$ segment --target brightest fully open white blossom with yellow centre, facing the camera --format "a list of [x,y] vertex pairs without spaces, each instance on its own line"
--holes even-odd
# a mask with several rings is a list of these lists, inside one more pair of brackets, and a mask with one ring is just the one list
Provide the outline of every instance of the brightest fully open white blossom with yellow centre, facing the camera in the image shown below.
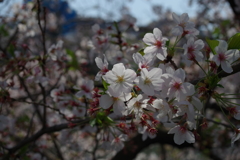
[[120,96],[122,93],[130,93],[133,87],[133,81],[136,79],[136,73],[131,69],[125,69],[123,63],[113,66],[103,79],[110,84],[108,91],[114,97]]

